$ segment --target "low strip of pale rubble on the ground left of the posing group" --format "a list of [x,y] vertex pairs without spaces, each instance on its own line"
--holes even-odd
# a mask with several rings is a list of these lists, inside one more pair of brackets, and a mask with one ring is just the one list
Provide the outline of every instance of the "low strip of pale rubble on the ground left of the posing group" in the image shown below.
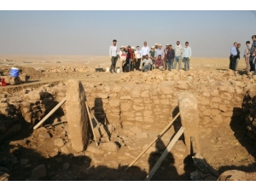
[[91,67],[46,67],[42,72],[48,72],[48,73],[68,73],[68,72],[93,72],[95,69]]

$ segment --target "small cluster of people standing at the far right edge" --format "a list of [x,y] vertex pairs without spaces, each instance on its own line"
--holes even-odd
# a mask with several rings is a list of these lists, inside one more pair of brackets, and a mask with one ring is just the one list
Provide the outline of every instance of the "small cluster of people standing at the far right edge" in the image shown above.
[[[246,42],[247,48],[244,51],[244,58],[247,65],[247,72],[255,72],[255,64],[256,64],[256,35],[252,36],[253,44],[250,44],[250,41]],[[237,44],[236,42],[230,49],[230,69],[236,71],[238,61],[240,60],[240,50],[241,44]]]

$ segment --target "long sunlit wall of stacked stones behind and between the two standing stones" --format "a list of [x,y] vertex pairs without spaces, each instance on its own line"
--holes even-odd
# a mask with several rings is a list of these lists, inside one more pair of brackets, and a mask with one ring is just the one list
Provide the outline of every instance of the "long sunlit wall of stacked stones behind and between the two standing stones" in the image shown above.
[[[177,96],[194,94],[200,127],[230,125],[234,108],[241,108],[255,76],[233,71],[129,73],[117,83],[84,83],[88,103],[102,122],[117,127],[164,128],[175,116]],[[173,114],[172,114],[173,113]],[[106,116],[107,119],[104,119]]]

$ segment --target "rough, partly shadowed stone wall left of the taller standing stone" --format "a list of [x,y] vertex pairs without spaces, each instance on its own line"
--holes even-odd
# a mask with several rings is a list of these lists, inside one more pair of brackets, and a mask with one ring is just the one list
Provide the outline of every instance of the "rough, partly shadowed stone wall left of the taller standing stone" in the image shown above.
[[[62,83],[57,86],[44,84],[38,89],[27,88],[15,94],[0,94],[0,141],[22,129],[32,129],[65,96],[66,85]],[[63,106],[56,113],[64,115]],[[49,121],[53,118],[54,115]]]

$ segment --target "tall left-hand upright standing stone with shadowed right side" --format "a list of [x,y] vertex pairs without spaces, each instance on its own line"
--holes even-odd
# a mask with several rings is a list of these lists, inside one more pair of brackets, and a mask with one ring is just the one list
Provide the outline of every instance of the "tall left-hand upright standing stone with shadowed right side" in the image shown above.
[[88,114],[84,87],[79,80],[67,81],[67,124],[73,150],[84,151],[89,142]]

